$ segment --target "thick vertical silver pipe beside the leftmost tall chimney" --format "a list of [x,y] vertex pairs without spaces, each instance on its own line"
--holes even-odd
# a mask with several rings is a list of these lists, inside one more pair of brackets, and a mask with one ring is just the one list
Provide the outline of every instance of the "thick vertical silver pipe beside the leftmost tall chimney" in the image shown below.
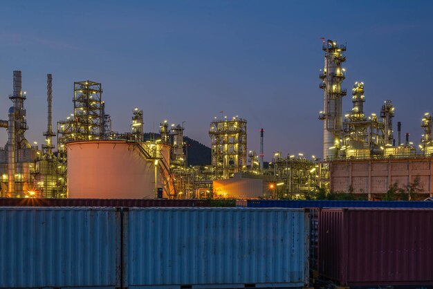
[[8,193],[15,194],[15,107],[9,109],[8,126]]

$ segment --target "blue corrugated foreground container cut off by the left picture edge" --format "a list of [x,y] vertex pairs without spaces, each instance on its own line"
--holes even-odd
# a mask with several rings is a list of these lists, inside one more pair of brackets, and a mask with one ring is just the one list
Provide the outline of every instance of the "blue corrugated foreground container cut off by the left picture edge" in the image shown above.
[[0,224],[0,288],[120,287],[116,209],[0,207]]

